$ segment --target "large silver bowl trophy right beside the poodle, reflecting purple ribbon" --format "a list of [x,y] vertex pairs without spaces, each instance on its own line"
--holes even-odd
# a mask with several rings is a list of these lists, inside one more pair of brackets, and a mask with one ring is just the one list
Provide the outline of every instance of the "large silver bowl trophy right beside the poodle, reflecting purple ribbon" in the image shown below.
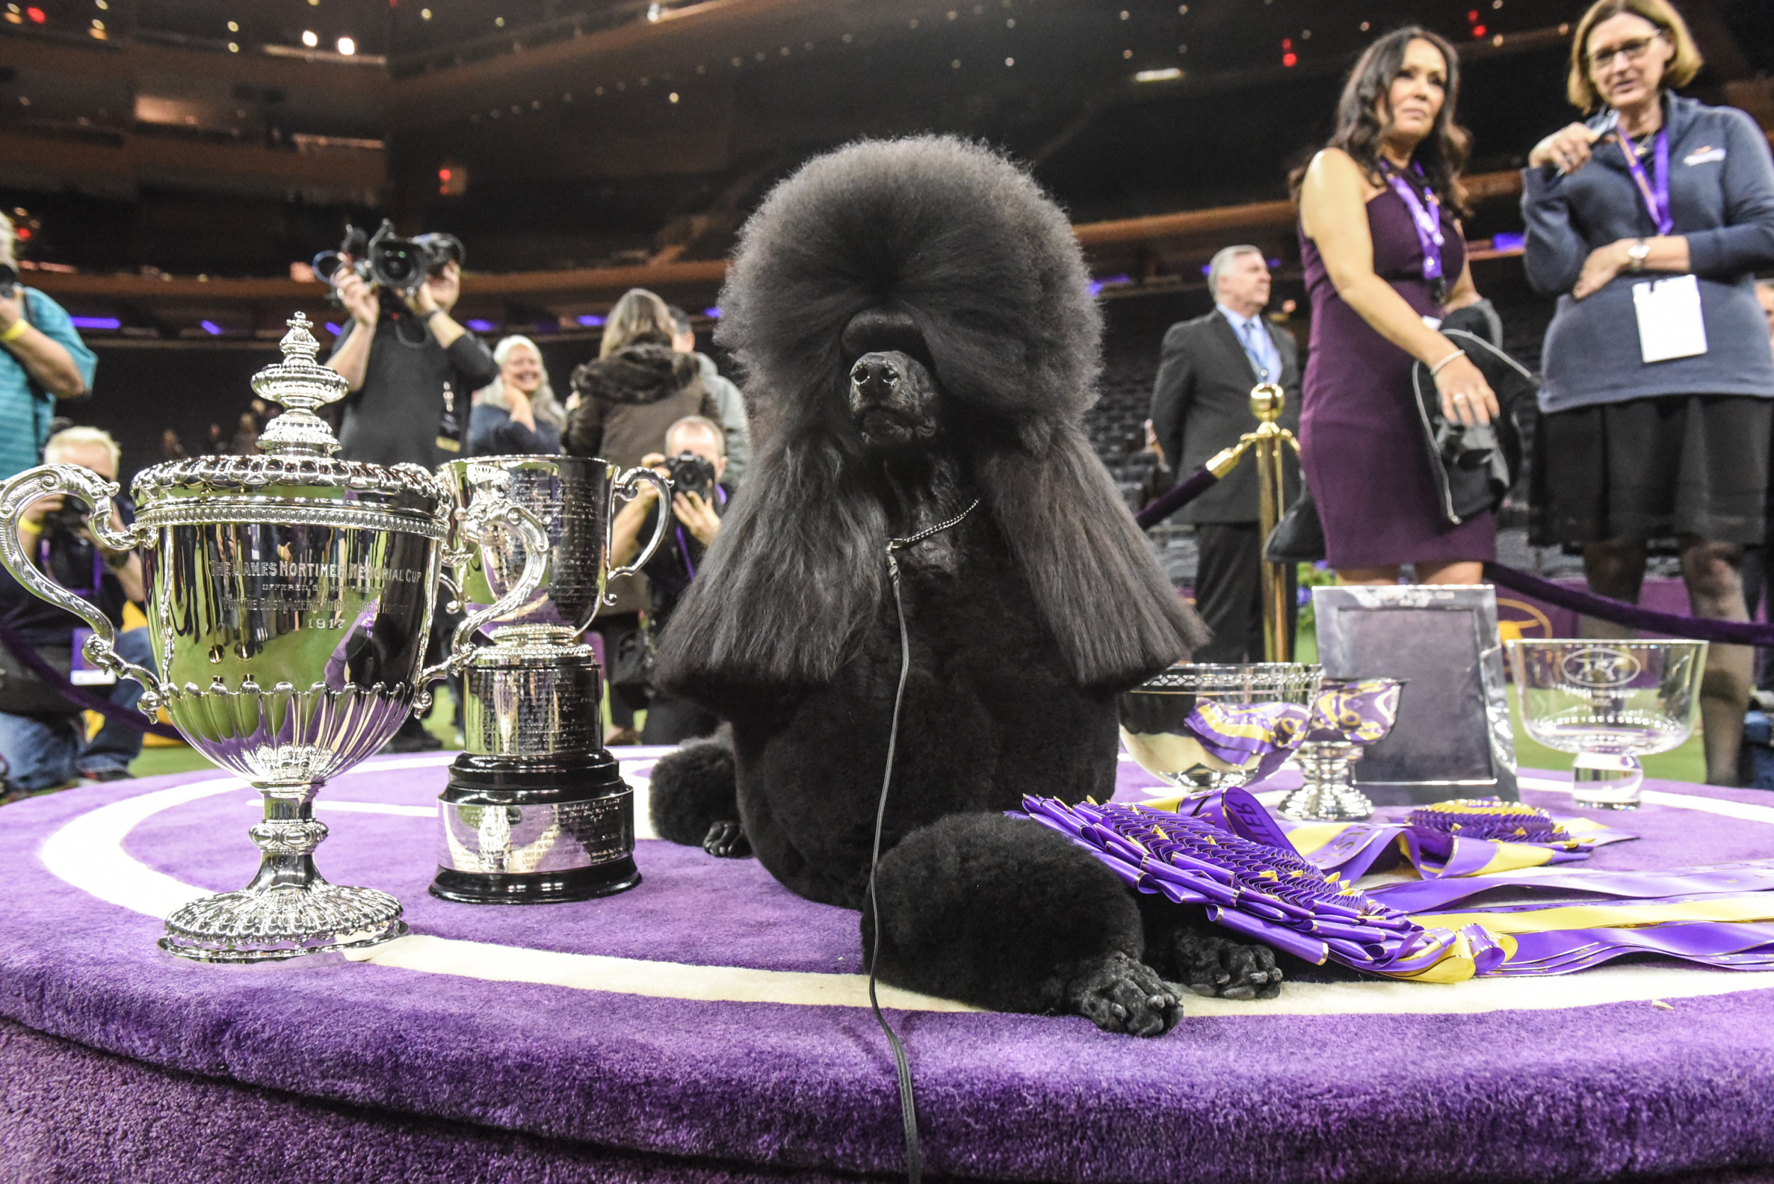
[[1318,666],[1176,663],[1119,698],[1121,743],[1185,794],[1267,776],[1300,743]]

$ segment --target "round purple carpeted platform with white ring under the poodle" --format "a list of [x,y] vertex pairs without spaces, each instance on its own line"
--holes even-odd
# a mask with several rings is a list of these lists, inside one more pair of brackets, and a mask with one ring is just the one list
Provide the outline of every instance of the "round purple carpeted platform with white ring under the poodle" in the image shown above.
[[[658,750],[621,750],[644,789]],[[259,798],[177,775],[0,808],[0,1180],[855,1180],[901,1159],[857,915],[642,840],[644,883],[445,904],[449,753],[328,785],[323,874],[413,936],[266,966],[154,948],[252,876]],[[1150,780],[1123,764],[1118,796]],[[1272,785],[1279,785],[1279,780]],[[1774,796],[1646,783],[1588,867],[1774,856]],[[1549,776],[1527,801],[1570,812]],[[1267,801],[1274,801],[1265,794]],[[1330,978],[1330,977],[1325,977]],[[1455,985],[1187,998],[1155,1040],[885,991],[931,1175],[981,1180],[1762,1180],[1774,973],[1639,961]]]

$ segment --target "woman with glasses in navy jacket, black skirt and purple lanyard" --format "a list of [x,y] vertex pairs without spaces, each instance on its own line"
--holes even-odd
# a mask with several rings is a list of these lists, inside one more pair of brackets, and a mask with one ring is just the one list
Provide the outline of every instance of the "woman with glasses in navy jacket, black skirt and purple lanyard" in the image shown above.
[[[1699,66],[1666,0],[1595,4],[1572,39],[1568,92],[1600,113],[1527,158],[1527,278],[1559,294],[1533,541],[1582,544],[1590,588],[1636,603],[1646,542],[1675,537],[1694,613],[1746,620],[1740,565],[1765,534],[1774,429],[1774,356],[1754,296],[1754,271],[1774,266],[1774,160],[1744,112],[1669,92]],[[1648,323],[1637,312],[1650,284],[1671,278],[1692,284],[1703,328],[1673,351],[1655,340],[1682,310]],[[1696,298],[1684,300],[1692,310]],[[1644,360],[1669,353],[1685,356]],[[1714,645],[1707,661],[1715,785],[1737,782],[1751,666],[1739,645]]]

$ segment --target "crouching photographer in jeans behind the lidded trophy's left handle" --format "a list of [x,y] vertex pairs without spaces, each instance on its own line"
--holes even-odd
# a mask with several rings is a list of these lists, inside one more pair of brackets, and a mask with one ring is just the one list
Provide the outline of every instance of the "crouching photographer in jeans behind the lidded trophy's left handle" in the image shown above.
[[[106,480],[117,479],[121,454],[117,441],[96,427],[69,427],[50,436],[44,463],[78,464]],[[112,526],[122,530],[133,509],[128,498],[112,500]],[[147,620],[131,613],[135,627],[124,627],[130,601],[142,601],[142,560],[135,551],[112,551],[87,530],[87,507],[60,496],[39,498],[20,514],[18,537],[39,571],[64,588],[90,599],[117,633],[117,652],[154,668],[154,647],[147,640]],[[0,615],[20,642],[64,677],[85,686],[108,686],[110,702],[135,707],[142,686],[110,672],[92,670],[80,654],[90,633],[78,617],[27,592],[0,571]],[[142,732],[106,720],[87,739],[80,707],[43,682],[9,649],[0,649],[0,755],[5,757],[12,792],[55,789],[76,776],[112,782],[130,776],[130,762],[142,752]],[[99,691],[106,693],[106,691]]]

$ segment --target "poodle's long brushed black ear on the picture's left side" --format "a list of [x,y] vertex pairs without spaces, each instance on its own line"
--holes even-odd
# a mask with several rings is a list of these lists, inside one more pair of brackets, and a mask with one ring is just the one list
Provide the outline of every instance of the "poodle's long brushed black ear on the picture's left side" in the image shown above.
[[766,447],[660,638],[655,679],[703,702],[830,682],[882,597],[887,519],[830,434]]

